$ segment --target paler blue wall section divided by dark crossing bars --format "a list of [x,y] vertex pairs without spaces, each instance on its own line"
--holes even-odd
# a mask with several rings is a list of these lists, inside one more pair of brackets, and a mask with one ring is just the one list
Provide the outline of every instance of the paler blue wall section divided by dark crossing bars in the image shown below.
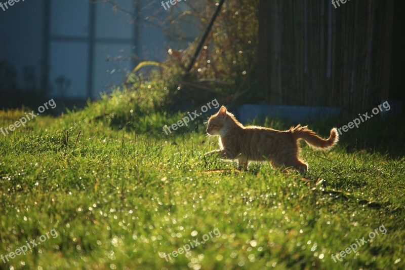
[[[121,1],[121,5],[133,10],[132,0]],[[119,17],[109,4],[76,1],[72,5],[67,0],[51,1],[50,14],[48,81],[52,96],[94,98],[124,80],[134,65],[131,56],[139,42],[133,16]]]

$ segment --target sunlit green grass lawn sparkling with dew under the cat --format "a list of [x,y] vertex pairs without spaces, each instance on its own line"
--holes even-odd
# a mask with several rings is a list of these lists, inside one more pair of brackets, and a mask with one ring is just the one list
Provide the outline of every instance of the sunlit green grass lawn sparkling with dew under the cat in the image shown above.
[[[403,131],[394,128],[403,120],[369,120],[328,152],[303,144],[313,179],[306,182],[267,164],[250,172],[207,173],[235,164],[204,159],[218,147],[204,135],[205,119],[166,136],[162,127],[176,123],[180,113],[154,112],[152,105],[131,112],[127,101],[115,95],[0,134],[0,254],[53,228],[58,232],[26,255],[0,260],[0,268],[405,266]],[[0,127],[21,116],[21,110],[1,112]],[[310,127],[326,136],[344,123],[330,119]],[[278,129],[291,124],[264,123]],[[386,234],[333,261],[332,254],[369,239],[382,224]],[[221,236],[190,254],[169,262],[161,257],[201,242],[215,228]]]

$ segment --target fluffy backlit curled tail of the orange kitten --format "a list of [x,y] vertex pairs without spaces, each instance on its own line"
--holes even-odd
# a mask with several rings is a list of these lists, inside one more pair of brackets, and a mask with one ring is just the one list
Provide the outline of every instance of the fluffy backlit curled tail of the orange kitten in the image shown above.
[[327,140],[322,139],[315,132],[308,129],[307,126],[301,127],[301,125],[290,128],[290,132],[296,140],[303,139],[313,148],[326,150],[334,147],[339,141],[339,134],[336,128],[331,130],[331,135]]

